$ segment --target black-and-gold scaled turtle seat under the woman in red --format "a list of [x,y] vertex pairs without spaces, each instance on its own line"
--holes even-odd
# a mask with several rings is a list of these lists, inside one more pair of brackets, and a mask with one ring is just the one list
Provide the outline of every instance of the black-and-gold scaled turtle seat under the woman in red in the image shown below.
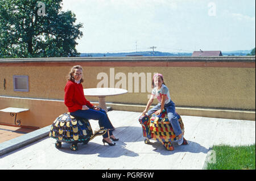
[[108,129],[100,129],[93,134],[88,119],[73,117],[68,112],[53,121],[49,137],[57,140],[56,148],[61,148],[61,142],[67,142],[71,143],[71,150],[76,151],[77,143],[87,144],[94,137],[105,134],[107,131]]

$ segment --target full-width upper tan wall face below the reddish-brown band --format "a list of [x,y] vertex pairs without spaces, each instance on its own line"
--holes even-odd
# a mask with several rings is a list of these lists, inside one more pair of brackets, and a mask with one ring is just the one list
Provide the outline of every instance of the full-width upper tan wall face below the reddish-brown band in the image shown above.
[[[5,66],[1,67],[0,95],[40,99],[64,99],[66,75],[71,66]],[[199,68],[199,67],[99,67],[84,66],[84,88],[96,87],[101,80],[99,73],[109,77],[110,68],[115,74],[128,73],[162,73],[164,82],[170,89],[176,106],[235,108],[242,110],[255,109],[255,68]],[[113,69],[112,69],[113,70]],[[15,92],[13,75],[28,75],[29,91]],[[6,90],[3,88],[6,79]],[[150,78],[151,79],[151,78]],[[114,85],[119,80],[114,80]],[[141,81],[139,81],[141,84]],[[134,87],[134,86],[133,86]],[[129,92],[124,95],[108,96],[106,102],[147,103],[149,92]],[[96,100],[96,97],[86,97]]]

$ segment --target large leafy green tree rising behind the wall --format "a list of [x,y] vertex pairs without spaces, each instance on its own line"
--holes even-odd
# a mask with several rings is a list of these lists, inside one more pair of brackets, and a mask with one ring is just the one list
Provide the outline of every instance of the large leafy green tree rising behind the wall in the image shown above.
[[0,57],[76,57],[82,24],[62,0],[1,0]]

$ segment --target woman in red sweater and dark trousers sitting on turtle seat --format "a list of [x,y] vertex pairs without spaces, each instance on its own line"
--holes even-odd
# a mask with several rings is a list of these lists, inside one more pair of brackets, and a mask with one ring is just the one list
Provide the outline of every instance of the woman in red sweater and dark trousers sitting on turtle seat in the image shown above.
[[68,74],[68,82],[64,89],[64,103],[68,107],[68,111],[72,116],[98,120],[100,128],[105,128],[109,131],[109,135],[108,132],[102,135],[104,145],[105,142],[110,146],[115,145],[111,140],[118,141],[118,139],[112,133],[114,127],[110,123],[108,115],[104,110],[85,99],[82,82],[84,82],[82,79],[82,67],[80,65],[73,66]]

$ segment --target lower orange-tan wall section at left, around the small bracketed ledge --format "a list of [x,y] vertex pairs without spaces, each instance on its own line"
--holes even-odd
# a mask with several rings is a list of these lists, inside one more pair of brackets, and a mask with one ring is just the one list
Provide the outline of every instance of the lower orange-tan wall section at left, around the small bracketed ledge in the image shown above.
[[[53,123],[57,116],[67,112],[63,101],[35,100],[0,97],[0,110],[6,107],[27,108],[29,111],[17,113],[16,120],[20,125],[29,127],[46,127]],[[0,111],[0,124],[14,124],[15,116]]]

